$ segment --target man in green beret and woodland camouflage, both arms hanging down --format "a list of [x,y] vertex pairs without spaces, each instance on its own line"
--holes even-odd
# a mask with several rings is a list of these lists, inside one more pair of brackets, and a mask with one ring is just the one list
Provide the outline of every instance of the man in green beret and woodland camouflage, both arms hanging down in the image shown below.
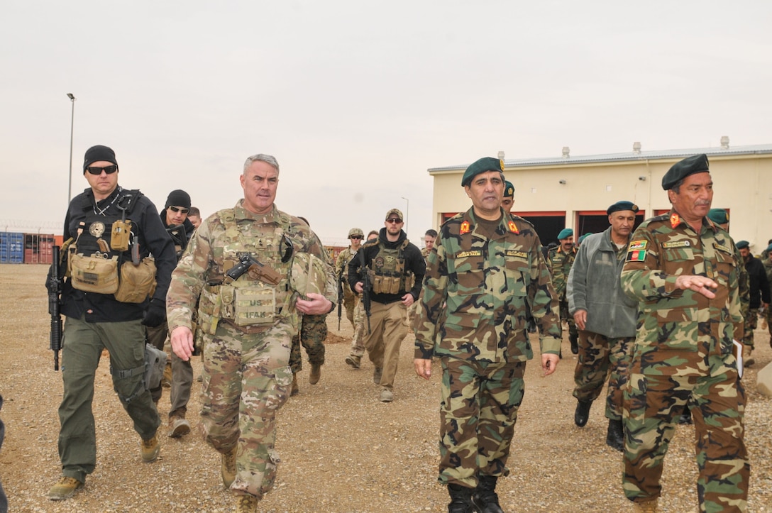
[[[415,372],[442,365],[438,481],[449,511],[502,511],[496,495],[523,400],[533,351],[526,309],[541,326],[541,366],[554,372],[560,350],[557,296],[528,221],[500,208],[503,161],[470,165],[462,186],[472,208],[442,224],[428,255],[424,298],[415,319]],[[436,345],[435,345],[436,341]]]

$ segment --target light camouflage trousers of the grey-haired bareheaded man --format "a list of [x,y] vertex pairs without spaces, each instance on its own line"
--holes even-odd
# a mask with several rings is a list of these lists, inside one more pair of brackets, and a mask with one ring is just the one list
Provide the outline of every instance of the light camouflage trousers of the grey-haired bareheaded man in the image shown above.
[[236,447],[231,490],[262,498],[276,479],[276,412],[289,397],[289,346],[295,328],[280,322],[245,334],[219,322],[204,336],[201,429],[219,453]]

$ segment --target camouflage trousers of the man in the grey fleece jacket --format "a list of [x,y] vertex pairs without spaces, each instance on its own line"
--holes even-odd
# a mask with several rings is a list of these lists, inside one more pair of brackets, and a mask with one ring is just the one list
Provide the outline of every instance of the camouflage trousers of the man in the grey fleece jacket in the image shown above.
[[606,417],[621,420],[622,395],[634,343],[633,336],[609,339],[598,333],[580,330],[579,358],[574,369],[574,397],[581,401],[598,399],[608,377]]

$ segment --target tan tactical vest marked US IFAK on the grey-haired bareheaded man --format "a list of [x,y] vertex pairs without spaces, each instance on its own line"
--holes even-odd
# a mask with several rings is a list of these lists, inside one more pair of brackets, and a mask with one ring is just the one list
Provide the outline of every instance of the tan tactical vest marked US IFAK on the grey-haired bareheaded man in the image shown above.
[[[279,226],[268,224],[239,223],[233,209],[219,211],[217,217],[225,228],[222,238],[212,241],[215,255],[222,243],[222,268],[210,270],[215,275],[207,276],[198,305],[198,319],[201,330],[214,335],[219,319],[227,319],[244,332],[255,332],[273,326],[279,320],[298,325],[295,309],[290,309],[292,292],[289,290],[289,269],[293,245],[286,236],[284,227],[289,227],[289,218],[280,218]],[[256,228],[265,231],[256,231]],[[235,281],[225,284],[222,276],[239,264],[240,255],[249,253],[262,265],[273,268],[282,275],[278,285],[270,285],[245,272]]]

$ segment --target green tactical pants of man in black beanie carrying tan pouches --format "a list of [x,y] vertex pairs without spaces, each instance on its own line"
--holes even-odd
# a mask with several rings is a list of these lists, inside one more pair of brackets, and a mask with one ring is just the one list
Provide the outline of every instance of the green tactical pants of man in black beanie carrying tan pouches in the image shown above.
[[59,406],[59,459],[64,476],[84,482],[97,466],[97,434],[91,403],[102,349],[107,348],[110,353],[113,390],[134,420],[134,430],[143,440],[149,440],[161,424],[151,393],[144,389],[143,372],[127,377],[116,375],[122,370],[144,370],[144,337],[144,326],[139,320],[66,319],[62,348],[64,396]]

